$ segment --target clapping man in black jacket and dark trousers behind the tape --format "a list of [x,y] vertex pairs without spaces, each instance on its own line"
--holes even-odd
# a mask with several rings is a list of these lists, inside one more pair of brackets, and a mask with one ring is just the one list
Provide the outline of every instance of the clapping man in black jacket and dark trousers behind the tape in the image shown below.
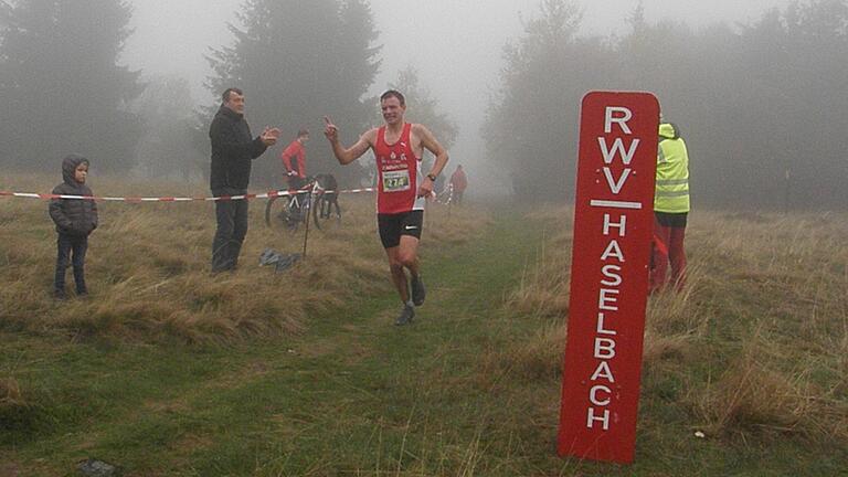
[[[265,152],[279,137],[279,129],[268,128],[259,136],[251,136],[251,127],[244,120],[244,93],[227,88],[222,95],[209,138],[212,141],[212,195],[242,195],[247,193],[251,181],[251,161]],[[235,269],[239,253],[247,234],[247,201],[224,200],[215,202],[218,230],[212,243],[212,272]]]

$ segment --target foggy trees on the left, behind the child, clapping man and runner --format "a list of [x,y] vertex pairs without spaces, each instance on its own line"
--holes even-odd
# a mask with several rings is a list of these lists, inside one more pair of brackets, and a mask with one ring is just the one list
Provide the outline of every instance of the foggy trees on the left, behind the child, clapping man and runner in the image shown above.
[[[51,170],[74,151],[112,173],[208,173],[218,104],[198,109],[186,80],[120,65],[131,15],[125,0],[0,0],[4,170]],[[216,96],[243,88],[254,128],[279,127],[290,136],[285,142],[300,128],[320,136],[321,117],[331,114],[352,141],[379,121],[378,100],[367,95],[381,64],[379,32],[365,0],[245,0],[227,26],[235,40],[206,52],[206,87]],[[415,71],[399,73],[399,83],[415,88],[416,118],[443,125],[449,146],[455,127]],[[257,184],[282,182],[278,161],[257,161],[254,171]],[[329,148],[310,149],[309,171],[333,172],[342,183],[368,177],[362,165],[339,168]]]

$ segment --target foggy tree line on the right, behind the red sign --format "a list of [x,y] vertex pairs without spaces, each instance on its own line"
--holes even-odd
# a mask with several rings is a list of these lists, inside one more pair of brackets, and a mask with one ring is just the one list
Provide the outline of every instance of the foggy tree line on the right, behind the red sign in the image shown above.
[[579,110],[592,89],[648,91],[682,131],[696,206],[848,205],[848,2],[772,9],[750,24],[648,22],[581,36],[568,0],[543,0],[504,50],[483,134],[516,192],[574,194]]

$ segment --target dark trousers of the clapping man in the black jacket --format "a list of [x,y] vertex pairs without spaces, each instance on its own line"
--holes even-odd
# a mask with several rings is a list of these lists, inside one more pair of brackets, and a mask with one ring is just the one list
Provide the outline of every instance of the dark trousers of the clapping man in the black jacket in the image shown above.
[[[215,197],[242,195],[246,190],[219,189],[212,191]],[[212,272],[235,269],[242,242],[247,235],[247,201],[223,200],[215,202],[218,231],[212,242]]]

